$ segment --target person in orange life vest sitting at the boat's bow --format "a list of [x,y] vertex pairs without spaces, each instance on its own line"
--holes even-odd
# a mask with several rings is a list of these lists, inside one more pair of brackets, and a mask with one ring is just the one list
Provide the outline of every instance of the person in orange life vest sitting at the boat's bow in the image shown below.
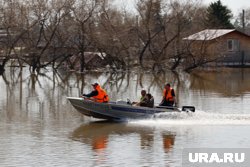
[[98,83],[92,84],[93,91],[89,94],[83,94],[84,97],[92,98],[94,101],[99,103],[107,103],[109,101],[108,94],[101,88]]

